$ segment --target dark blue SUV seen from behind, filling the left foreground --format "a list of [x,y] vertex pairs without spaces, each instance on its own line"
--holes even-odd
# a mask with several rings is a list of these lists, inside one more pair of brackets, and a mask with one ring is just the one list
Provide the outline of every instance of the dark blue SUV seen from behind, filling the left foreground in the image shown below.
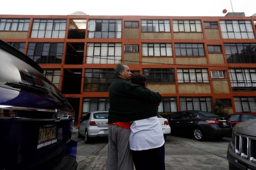
[[24,53],[0,40],[0,169],[77,168],[74,109]]

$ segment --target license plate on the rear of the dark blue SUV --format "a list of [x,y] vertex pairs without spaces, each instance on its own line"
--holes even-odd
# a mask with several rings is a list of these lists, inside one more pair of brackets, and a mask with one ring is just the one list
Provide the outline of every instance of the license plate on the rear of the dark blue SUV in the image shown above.
[[56,134],[56,125],[52,127],[40,127],[38,135],[38,145],[56,139]]

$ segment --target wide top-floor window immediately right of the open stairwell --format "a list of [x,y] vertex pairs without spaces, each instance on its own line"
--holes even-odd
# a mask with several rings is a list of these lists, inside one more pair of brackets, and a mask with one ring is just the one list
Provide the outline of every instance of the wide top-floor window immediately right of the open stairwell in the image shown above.
[[88,38],[122,38],[122,20],[90,20]]

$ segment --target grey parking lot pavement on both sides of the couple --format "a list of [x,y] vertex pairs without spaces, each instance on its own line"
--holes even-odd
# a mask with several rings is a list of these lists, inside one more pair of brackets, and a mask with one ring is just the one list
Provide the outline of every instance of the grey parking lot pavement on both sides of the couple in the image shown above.
[[[78,170],[105,170],[108,139],[93,139],[85,144],[74,129],[72,139],[78,142]],[[228,170],[227,149],[230,137],[203,142],[182,136],[168,135],[165,141],[166,170]]]

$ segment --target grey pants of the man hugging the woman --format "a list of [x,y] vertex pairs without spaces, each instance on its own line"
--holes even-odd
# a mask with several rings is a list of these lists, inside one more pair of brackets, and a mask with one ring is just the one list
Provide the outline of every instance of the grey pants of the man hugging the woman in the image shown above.
[[130,129],[108,126],[108,158],[106,170],[133,170],[129,146]]

